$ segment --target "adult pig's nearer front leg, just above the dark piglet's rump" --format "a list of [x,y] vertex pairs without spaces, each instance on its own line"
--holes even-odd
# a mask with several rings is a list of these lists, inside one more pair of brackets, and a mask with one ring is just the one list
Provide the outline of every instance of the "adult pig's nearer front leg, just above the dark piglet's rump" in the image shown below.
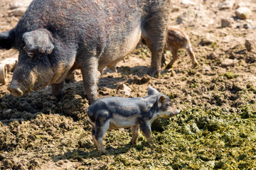
[[89,104],[97,100],[97,67],[97,57],[90,57],[90,59],[86,60],[85,64],[81,68],[82,81],[85,85],[85,92],[89,100]]

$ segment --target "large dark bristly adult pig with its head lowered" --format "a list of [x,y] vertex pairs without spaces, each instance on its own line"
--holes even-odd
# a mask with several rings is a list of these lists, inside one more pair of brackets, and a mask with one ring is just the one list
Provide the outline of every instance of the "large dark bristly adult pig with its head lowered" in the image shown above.
[[0,49],[16,48],[9,86],[23,96],[51,84],[60,94],[65,77],[81,69],[90,103],[97,99],[97,69],[116,63],[143,38],[158,76],[171,0],[34,0],[17,26],[0,34]]

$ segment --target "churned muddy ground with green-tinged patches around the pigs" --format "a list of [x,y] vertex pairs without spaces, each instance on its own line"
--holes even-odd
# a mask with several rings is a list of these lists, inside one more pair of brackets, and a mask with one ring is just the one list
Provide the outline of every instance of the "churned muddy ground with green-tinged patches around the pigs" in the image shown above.
[[[0,84],[0,168],[255,169],[256,50],[248,51],[245,40],[256,44],[256,18],[236,18],[238,0],[223,10],[220,0],[193,2],[173,1],[170,20],[190,36],[199,67],[192,68],[186,51],[179,50],[172,69],[163,67],[161,77],[149,77],[150,52],[143,46],[119,62],[117,73],[106,69],[98,83],[100,97],[122,96],[119,84],[132,89],[131,97],[146,96],[150,84],[173,98],[181,113],[152,125],[154,145],[141,134],[138,144],[130,145],[129,129],[109,130],[104,139],[109,154],[101,156],[90,136],[79,70],[61,98],[51,95],[50,87],[11,96],[9,72],[9,83]],[[1,0],[0,31],[18,21],[11,3]],[[255,1],[244,5],[256,16]],[[221,28],[221,18],[232,28]],[[15,50],[0,51],[0,61],[17,56]]]

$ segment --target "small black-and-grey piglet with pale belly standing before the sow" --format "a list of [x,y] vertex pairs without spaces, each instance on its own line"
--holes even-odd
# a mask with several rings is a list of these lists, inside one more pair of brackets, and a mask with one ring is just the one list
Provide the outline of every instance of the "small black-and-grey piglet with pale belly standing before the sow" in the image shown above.
[[102,137],[108,129],[129,128],[132,144],[137,143],[139,130],[149,143],[153,142],[151,123],[156,118],[170,118],[180,111],[170,98],[149,86],[148,96],[143,98],[105,97],[99,98],[87,108],[92,123],[92,138],[97,149],[106,154]]

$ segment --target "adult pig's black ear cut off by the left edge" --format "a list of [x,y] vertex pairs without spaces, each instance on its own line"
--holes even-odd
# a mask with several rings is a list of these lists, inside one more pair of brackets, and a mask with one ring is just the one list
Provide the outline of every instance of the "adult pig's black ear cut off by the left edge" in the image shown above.
[[14,42],[14,31],[0,33],[0,49],[10,50]]

